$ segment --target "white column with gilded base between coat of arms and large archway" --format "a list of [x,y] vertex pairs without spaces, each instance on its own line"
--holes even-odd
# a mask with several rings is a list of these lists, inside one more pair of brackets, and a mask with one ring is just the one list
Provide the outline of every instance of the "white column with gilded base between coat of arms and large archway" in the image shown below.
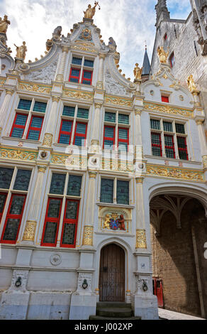
[[135,178],[136,181],[136,248],[147,248],[145,233],[145,211],[143,199],[143,180]]

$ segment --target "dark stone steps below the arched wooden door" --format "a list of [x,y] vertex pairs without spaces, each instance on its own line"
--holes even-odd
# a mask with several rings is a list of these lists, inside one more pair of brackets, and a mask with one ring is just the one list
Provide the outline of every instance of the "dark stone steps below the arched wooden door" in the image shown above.
[[99,307],[96,308],[96,316],[109,317],[109,318],[130,318],[133,316],[133,311],[131,308],[124,307]]

